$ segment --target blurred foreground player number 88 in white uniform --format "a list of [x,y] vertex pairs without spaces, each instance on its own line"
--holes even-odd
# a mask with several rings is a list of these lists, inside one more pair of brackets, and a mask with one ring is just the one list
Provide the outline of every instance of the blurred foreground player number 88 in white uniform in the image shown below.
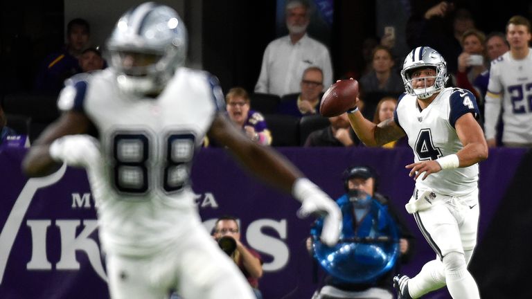
[[[247,281],[202,226],[190,188],[195,149],[206,134],[240,162],[323,212],[323,242],[335,244],[342,214],[327,194],[270,147],[256,145],[224,116],[209,73],[184,68],[186,28],[175,10],[143,3],[107,42],[109,69],[68,82],[64,114],[23,161],[42,176],[62,161],[87,169],[98,201],[100,239],[114,299],[254,298]],[[99,141],[85,135],[96,127]]]

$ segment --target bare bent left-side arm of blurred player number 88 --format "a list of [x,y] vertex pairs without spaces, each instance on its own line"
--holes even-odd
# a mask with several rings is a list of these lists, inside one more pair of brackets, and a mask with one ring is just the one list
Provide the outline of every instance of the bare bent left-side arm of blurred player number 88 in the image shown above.
[[65,135],[82,134],[88,131],[90,120],[80,112],[68,111],[49,125],[37,138],[22,161],[22,170],[27,176],[45,176],[60,167],[50,156],[50,145]]

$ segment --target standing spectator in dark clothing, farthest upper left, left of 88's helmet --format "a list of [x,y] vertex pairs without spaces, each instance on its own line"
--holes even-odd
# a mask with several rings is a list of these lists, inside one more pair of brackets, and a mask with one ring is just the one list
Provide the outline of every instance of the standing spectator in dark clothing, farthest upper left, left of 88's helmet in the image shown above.
[[35,91],[57,95],[64,86],[64,80],[81,73],[79,57],[89,44],[91,30],[85,19],[72,19],[67,25],[67,44],[48,55],[37,73]]

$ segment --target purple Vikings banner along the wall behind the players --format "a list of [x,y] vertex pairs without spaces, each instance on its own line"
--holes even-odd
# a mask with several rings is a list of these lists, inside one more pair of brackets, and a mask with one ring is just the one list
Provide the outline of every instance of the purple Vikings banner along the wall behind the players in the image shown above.
[[[416,234],[408,275],[434,258],[412,217],[403,208],[414,188],[405,165],[409,149],[280,148],[333,198],[342,195],[342,172],[349,165],[378,171],[380,192],[403,212]],[[524,150],[495,149],[481,163],[482,237],[504,197]],[[20,172],[24,149],[0,151],[0,298],[108,298],[94,201],[83,170],[66,168],[41,179]],[[299,219],[299,202],[269,188],[242,170],[223,149],[203,149],[195,158],[193,189],[206,229],[220,215],[240,219],[242,239],[265,260],[260,289],[265,299],[310,298],[312,259],[305,251],[313,219]],[[481,250],[481,242],[479,242]],[[449,298],[445,294],[428,298]]]

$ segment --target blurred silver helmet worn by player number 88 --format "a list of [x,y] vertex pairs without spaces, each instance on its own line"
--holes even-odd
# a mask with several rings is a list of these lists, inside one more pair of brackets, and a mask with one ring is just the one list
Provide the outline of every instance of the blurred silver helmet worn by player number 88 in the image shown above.
[[153,2],[125,12],[107,40],[109,66],[128,93],[157,93],[186,59],[186,28],[175,10]]

